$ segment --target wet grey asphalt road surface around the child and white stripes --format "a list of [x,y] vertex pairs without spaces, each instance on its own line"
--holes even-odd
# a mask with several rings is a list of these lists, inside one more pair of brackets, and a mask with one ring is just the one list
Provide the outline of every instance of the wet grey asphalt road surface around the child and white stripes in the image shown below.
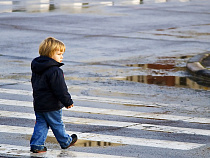
[[[6,1],[5,1],[6,2]],[[11,2],[11,1],[7,1]],[[31,2],[31,3],[29,3]],[[179,1],[17,1],[0,3],[0,88],[29,90],[30,62],[38,46],[53,36],[66,45],[64,70],[72,95],[138,100],[167,106],[121,105],[75,101],[76,106],[130,110],[157,114],[209,118],[210,93],[205,80],[199,84],[187,71],[187,61],[210,50],[210,3]],[[155,3],[156,2],[156,3]],[[208,65],[208,63],[205,63]],[[3,80],[15,81],[4,83]],[[27,84],[21,84],[24,82]],[[0,99],[32,101],[32,97],[0,93]],[[15,106],[0,106],[13,111]],[[33,113],[32,108],[15,111]],[[109,121],[209,130],[209,124],[64,112],[65,116]],[[0,117],[1,125],[33,128],[34,121]],[[137,145],[108,147],[75,146],[73,151],[142,158],[207,158],[209,136],[137,131],[117,127],[66,124],[67,130],[134,138],[176,140],[206,145],[192,150],[173,150]],[[28,146],[21,134],[0,134],[1,144]],[[49,140],[47,146],[59,149]]]

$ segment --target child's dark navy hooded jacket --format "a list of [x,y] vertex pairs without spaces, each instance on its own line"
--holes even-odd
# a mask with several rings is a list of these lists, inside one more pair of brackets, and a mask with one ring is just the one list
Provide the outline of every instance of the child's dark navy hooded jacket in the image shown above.
[[46,56],[39,56],[32,61],[34,111],[55,111],[73,104],[60,69],[62,65]]

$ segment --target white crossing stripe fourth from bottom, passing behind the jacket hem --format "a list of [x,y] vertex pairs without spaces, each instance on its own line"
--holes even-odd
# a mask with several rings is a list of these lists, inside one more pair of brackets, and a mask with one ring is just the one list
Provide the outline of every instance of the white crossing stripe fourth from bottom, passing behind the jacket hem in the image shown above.
[[[32,102],[8,100],[8,99],[0,99],[0,104],[33,107]],[[67,110],[67,109],[64,108],[64,110]],[[184,121],[184,122],[190,122],[190,123],[210,124],[209,118],[200,118],[200,117],[154,114],[154,113],[102,109],[102,108],[92,108],[92,107],[82,107],[82,106],[76,106],[69,110],[73,112],[92,113],[92,114],[117,115],[117,116],[125,116],[125,117],[144,118],[144,119],[171,120],[171,121]]]

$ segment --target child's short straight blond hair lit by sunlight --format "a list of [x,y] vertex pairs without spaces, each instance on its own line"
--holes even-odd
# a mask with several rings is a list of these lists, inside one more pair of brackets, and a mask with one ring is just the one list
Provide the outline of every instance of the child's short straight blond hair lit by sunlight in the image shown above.
[[65,49],[63,42],[54,37],[48,37],[39,45],[39,55],[52,57],[56,51],[65,52]]

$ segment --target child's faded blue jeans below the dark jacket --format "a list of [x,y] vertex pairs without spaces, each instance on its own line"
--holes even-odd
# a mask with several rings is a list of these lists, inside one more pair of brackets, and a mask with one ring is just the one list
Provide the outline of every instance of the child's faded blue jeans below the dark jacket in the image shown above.
[[72,141],[65,131],[62,121],[62,110],[50,112],[35,112],[36,124],[31,137],[30,146],[32,150],[41,150],[47,138],[49,127],[52,129],[58,143],[61,147],[68,147]]

